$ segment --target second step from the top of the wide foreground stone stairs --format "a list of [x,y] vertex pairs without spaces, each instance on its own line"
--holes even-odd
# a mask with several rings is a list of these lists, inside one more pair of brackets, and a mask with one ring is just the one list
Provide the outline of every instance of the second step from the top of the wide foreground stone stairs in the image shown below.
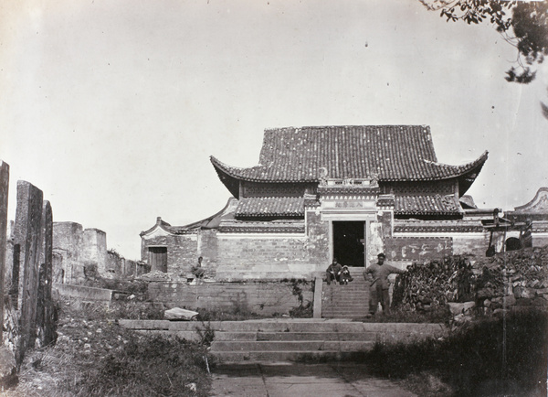
[[217,332],[216,341],[375,340],[376,332]]

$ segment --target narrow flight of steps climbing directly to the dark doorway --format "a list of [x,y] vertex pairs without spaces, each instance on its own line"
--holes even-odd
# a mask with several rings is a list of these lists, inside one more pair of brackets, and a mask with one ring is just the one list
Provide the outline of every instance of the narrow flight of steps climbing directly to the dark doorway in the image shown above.
[[364,280],[363,267],[350,267],[353,281],[328,285],[321,290],[321,317],[363,319],[369,313],[369,282]]

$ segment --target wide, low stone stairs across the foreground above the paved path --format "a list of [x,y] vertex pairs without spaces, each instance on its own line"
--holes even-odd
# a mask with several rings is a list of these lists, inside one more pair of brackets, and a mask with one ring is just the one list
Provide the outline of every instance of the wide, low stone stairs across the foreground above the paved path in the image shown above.
[[268,318],[200,322],[120,320],[122,327],[141,332],[199,339],[196,328],[215,331],[211,353],[219,362],[344,359],[366,351],[375,341],[443,336],[439,324],[362,323],[350,319]]

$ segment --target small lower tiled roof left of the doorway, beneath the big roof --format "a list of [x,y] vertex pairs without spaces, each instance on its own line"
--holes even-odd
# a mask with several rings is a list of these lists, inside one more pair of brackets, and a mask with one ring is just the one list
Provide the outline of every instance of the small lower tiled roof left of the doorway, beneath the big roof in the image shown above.
[[239,200],[237,218],[246,217],[304,217],[302,197],[254,197]]

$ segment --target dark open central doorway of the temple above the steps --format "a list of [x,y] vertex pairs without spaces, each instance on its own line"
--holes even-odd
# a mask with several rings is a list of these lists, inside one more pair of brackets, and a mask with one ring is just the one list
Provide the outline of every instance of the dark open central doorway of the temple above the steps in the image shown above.
[[363,221],[333,221],[333,257],[343,266],[364,267],[363,241]]

